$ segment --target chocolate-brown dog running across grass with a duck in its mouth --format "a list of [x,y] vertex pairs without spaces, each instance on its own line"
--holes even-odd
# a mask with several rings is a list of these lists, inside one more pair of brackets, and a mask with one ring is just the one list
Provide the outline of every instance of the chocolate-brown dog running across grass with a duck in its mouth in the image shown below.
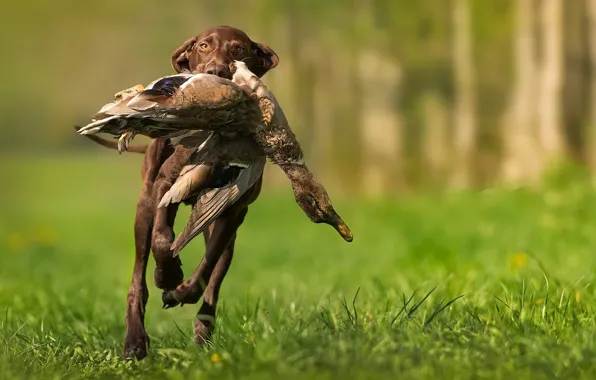
[[[249,70],[263,76],[279,62],[277,54],[268,46],[252,41],[244,32],[229,26],[207,29],[185,41],[172,54],[172,66],[178,73],[209,73],[231,79],[233,62],[243,61]],[[90,136],[91,137],[91,136]],[[92,139],[110,148],[115,142],[98,137]],[[134,152],[145,152],[141,173],[143,188],[135,217],[135,263],[132,284],[128,292],[126,311],[126,339],[124,355],[142,359],[147,356],[149,337],[145,331],[145,305],[149,297],[146,269],[149,250],[156,261],[155,285],[163,290],[188,288],[185,303],[197,303],[203,295],[203,304],[195,320],[195,342],[206,342],[215,327],[215,309],[223,279],[234,254],[236,231],[244,221],[248,205],[258,197],[262,178],[240,199],[236,205],[218,217],[204,233],[206,252],[201,264],[192,276],[192,286],[182,283],[183,272],[178,257],[173,258],[170,246],[174,240],[174,219],[177,204],[157,208],[163,195],[173,185],[190,155],[181,146],[175,149],[167,140],[155,139],[148,147],[132,146]],[[188,199],[185,203],[194,203]],[[196,281],[205,286],[197,289]]]

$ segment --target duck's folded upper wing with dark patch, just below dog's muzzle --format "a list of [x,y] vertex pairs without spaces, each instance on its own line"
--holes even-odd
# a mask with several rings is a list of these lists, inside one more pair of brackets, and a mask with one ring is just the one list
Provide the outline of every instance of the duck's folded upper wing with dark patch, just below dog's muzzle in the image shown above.
[[135,132],[155,138],[178,137],[189,130],[227,131],[240,125],[248,130],[256,113],[247,99],[240,86],[216,75],[171,75],[132,98],[104,106],[104,112],[79,133]]

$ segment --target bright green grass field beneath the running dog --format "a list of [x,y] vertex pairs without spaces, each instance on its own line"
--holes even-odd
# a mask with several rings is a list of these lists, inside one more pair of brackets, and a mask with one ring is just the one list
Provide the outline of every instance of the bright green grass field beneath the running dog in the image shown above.
[[[596,376],[596,195],[581,181],[337,200],[352,244],[289,193],[265,194],[213,345],[194,346],[196,308],[162,310],[150,281],[151,353],[132,362],[121,351],[140,157],[0,160],[1,379]],[[200,255],[197,239],[187,274]]]

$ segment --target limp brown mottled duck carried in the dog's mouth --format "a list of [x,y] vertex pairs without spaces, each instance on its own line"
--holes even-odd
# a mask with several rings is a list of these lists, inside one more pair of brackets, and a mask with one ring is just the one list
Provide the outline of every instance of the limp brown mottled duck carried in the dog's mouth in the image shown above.
[[351,230],[305,164],[275,95],[244,62],[234,65],[232,80],[185,73],[121,91],[78,133],[120,136],[123,150],[137,134],[196,149],[159,203],[167,207],[197,196],[172,244],[174,256],[255,184],[266,158],[284,171],[296,203],[313,223],[328,224],[351,242]]

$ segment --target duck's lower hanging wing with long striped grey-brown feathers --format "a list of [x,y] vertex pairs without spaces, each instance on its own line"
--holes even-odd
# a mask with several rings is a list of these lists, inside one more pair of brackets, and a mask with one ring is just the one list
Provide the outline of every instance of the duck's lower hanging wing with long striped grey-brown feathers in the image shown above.
[[265,157],[260,157],[243,168],[228,185],[205,190],[195,205],[188,223],[171,246],[174,257],[192,240],[205,230],[226,208],[244,195],[263,174]]

